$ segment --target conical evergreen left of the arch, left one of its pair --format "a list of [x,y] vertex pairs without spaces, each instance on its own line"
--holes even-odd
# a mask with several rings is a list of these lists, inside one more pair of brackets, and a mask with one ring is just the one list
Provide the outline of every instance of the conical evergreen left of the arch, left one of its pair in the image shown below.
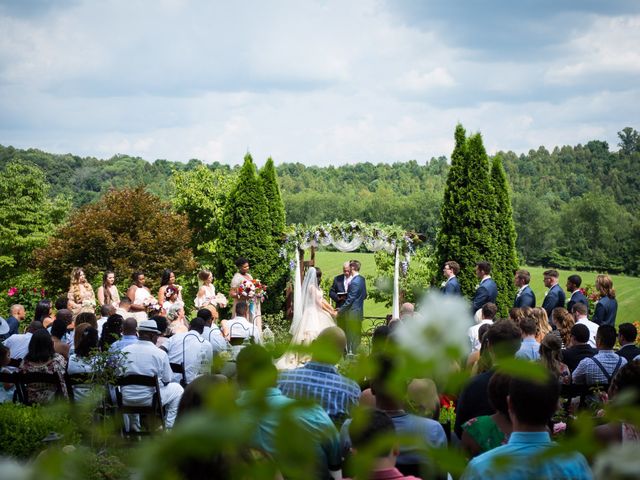
[[262,182],[251,155],[247,154],[224,209],[216,283],[219,291],[228,291],[236,271],[236,259],[247,258],[253,278],[259,278],[269,287],[262,313],[273,311],[281,296],[281,292],[274,289],[273,282],[277,284],[277,274],[281,270],[279,264],[283,259],[278,255],[272,226]]

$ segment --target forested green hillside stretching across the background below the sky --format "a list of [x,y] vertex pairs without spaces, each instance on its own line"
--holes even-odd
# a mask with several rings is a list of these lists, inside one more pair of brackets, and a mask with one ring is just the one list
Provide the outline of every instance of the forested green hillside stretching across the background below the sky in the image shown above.
[[[544,147],[527,154],[500,152],[511,188],[518,252],[530,264],[637,273],[640,263],[640,135],[619,132],[619,150],[593,140]],[[45,172],[51,194],[74,206],[96,201],[111,187],[144,184],[161,198],[173,194],[171,175],[201,163],[118,155],[108,160],[53,155],[0,146],[0,169],[13,159]],[[278,159],[275,159],[276,161]],[[212,170],[231,173],[219,163]],[[435,239],[445,157],[426,164],[359,163],[340,167],[277,166],[287,222],[359,219],[398,224]]]

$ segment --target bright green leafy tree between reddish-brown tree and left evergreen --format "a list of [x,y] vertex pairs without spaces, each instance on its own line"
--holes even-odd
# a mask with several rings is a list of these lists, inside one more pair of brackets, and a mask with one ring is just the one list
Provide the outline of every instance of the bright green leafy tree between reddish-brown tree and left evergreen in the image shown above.
[[213,265],[224,205],[233,185],[233,176],[222,169],[197,165],[188,171],[174,171],[173,206],[189,219],[193,232],[191,248],[203,265]]

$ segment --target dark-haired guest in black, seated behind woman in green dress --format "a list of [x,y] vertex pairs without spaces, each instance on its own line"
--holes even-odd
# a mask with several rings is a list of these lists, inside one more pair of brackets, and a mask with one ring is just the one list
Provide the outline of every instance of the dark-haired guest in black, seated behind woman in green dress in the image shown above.
[[[502,358],[513,358],[520,347],[520,329],[510,320],[501,320],[489,327],[486,333],[487,349],[493,365]],[[458,398],[455,432],[462,437],[462,425],[480,415],[493,415],[494,408],[489,403],[489,380],[494,369],[472,377]]]

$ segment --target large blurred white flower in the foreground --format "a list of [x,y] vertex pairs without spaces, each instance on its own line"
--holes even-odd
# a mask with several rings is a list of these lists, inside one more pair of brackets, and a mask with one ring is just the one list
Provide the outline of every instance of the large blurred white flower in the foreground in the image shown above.
[[404,350],[423,360],[457,359],[469,350],[467,331],[473,325],[464,299],[428,293],[416,313],[398,326],[395,337]]

